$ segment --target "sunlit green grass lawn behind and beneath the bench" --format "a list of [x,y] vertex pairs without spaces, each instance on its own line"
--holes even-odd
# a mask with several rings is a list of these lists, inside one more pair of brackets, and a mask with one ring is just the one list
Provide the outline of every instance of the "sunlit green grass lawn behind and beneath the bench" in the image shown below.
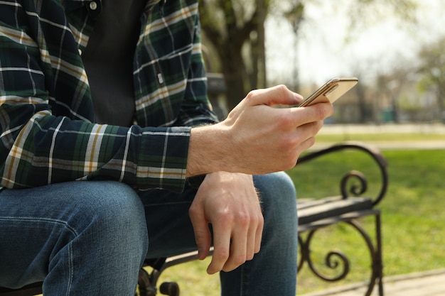
[[[392,137],[393,140],[396,138],[399,137]],[[344,139],[338,139],[341,140]],[[390,187],[379,205],[382,209],[385,275],[444,268],[445,150],[385,150],[383,154],[390,163]],[[289,175],[296,184],[299,197],[323,197],[333,192],[337,194],[343,172],[350,168],[368,168],[369,163],[370,158],[360,153],[337,153],[297,166],[289,170]],[[379,181],[377,170],[368,168],[364,172],[369,176],[370,184]],[[371,188],[369,194],[375,194]],[[372,233],[372,220],[366,218],[360,223]],[[328,251],[340,249],[350,259],[351,270],[345,280],[333,284],[317,280],[307,272],[306,266],[298,275],[299,294],[370,277],[367,248],[350,226],[342,224],[319,231],[313,240],[313,248],[320,265]],[[218,276],[205,274],[207,264],[208,260],[175,266],[165,271],[161,281],[178,280],[184,295],[219,295]]]

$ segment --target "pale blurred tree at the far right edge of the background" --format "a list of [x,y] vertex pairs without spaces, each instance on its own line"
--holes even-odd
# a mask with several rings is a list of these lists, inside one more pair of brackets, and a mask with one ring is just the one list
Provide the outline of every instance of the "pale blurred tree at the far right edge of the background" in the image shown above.
[[419,52],[419,89],[436,93],[437,114],[445,122],[445,36],[425,45]]

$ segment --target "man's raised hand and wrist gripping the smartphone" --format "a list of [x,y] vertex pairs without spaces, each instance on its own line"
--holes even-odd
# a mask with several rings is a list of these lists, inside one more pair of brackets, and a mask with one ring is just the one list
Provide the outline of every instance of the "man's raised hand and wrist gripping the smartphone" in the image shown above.
[[192,128],[187,175],[218,171],[259,175],[292,168],[315,142],[323,119],[333,113],[330,103],[273,108],[302,99],[284,86],[257,89],[224,121]]

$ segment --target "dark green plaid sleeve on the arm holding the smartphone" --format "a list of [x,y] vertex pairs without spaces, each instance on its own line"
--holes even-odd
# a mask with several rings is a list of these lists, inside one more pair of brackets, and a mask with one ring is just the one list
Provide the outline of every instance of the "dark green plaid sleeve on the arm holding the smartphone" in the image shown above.
[[191,128],[93,124],[63,8],[48,0],[39,11],[36,2],[0,3],[1,187],[117,180],[183,190]]

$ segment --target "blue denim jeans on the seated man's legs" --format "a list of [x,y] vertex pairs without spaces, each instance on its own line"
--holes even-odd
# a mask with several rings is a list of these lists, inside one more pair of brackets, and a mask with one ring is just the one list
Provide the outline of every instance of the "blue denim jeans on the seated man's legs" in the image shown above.
[[[262,249],[221,273],[222,295],[295,295],[296,206],[283,172],[254,177]],[[188,218],[195,190],[136,192],[112,181],[0,192],[0,286],[43,282],[45,296],[134,295],[144,258],[196,249]],[[147,252],[148,250],[148,252]]]

